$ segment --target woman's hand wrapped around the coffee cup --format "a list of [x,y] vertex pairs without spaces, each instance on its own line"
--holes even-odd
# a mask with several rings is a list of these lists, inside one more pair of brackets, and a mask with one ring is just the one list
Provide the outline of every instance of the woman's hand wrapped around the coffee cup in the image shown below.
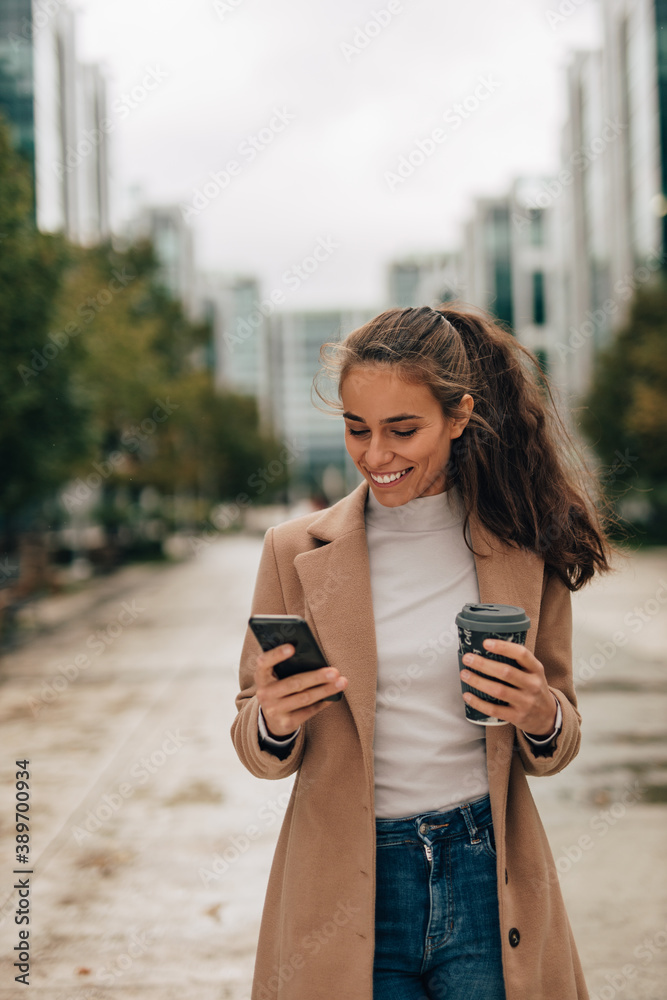
[[[492,679],[462,670],[461,680],[478,691],[483,691],[493,698],[500,698],[508,704],[494,705],[468,692],[463,695],[464,701],[486,715],[494,715],[498,719],[514,723],[518,729],[538,739],[540,736],[549,736],[556,724],[558,706],[549,690],[544,667],[540,661],[525,646],[520,646],[516,642],[485,639],[483,645],[491,653],[516,660],[523,670],[510,663],[500,663],[497,660],[489,660],[486,656],[466,653],[463,657],[464,664],[482,671]],[[508,684],[512,686],[507,687]]]

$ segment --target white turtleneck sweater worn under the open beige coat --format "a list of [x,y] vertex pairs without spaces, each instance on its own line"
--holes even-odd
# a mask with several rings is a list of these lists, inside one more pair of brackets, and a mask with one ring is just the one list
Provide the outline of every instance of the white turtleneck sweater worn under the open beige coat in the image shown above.
[[[377,644],[375,815],[452,809],[488,792],[486,731],[465,717],[455,617],[479,601],[455,489],[386,507],[368,492]],[[299,727],[300,729],[301,727]],[[267,747],[288,747],[266,731]],[[535,743],[546,743],[534,740]]]

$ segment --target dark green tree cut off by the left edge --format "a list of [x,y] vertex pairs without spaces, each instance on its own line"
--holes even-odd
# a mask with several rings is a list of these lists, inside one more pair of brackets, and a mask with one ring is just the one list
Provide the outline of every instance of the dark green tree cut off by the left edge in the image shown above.
[[49,336],[67,261],[62,238],[35,229],[30,170],[0,118],[0,515],[10,534],[88,442],[80,352]]

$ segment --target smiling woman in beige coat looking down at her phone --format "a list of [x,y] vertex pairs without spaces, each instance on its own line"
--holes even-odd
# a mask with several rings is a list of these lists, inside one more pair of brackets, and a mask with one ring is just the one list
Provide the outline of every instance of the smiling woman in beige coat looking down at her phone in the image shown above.
[[[278,680],[293,647],[246,635],[236,751],[296,772],[252,1000],[587,998],[526,775],[578,752],[570,591],[611,547],[544,376],[461,304],[390,309],[322,353],[363,482],[264,541],[253,613],[305,617],[330,668]],[[469,664],[507,703],[493,727],[459,681],[454,617],[478,601],[531,620],[493,646],[518,667]]]

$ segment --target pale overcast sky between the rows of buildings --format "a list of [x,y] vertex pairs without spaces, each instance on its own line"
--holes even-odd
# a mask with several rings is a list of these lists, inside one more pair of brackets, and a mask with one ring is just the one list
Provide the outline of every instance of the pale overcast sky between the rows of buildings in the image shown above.
[[[572,13],[550,24],[559,5]],[[75,9],[80,58],[108,77],[116,219],[139,201],[196,205],[197,267],[255,274],[289,309],[383,306],[387,261],[455,249],[476,196],[557,168],[569,53],[600,35],[598,0]],[[318,240],[336,246],[287,287]]]

